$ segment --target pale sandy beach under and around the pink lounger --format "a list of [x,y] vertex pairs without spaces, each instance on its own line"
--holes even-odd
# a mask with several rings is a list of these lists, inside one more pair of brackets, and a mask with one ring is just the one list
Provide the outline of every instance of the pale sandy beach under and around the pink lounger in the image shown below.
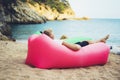
[[27,44],[0,41],[0,80],[120,80],[120,55],[110,53],[104,66],[38,69],[25,63]]

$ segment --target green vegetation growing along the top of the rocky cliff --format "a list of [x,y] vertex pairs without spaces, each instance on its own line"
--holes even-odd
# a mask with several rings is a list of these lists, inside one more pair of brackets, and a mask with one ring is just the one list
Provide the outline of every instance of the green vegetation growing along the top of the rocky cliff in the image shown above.
[[[63,13],[63,11],[70,7],[69,3],[66,0],[20,0],[22,2],[29,2],[31,4],[44,3],[45,5],[50,6],[53,10],[56,9],[59,13]],[[16,0],[4,0],[3,4],[5,6],[9,6],[11,3],[16,3]]]

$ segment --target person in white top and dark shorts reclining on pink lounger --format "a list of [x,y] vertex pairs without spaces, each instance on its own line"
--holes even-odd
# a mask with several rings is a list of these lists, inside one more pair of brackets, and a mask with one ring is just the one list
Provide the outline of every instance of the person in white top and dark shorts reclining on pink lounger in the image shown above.
[[[55,40],[54,39],[54,33],[53,33],[52,29],[46,29],[46,30],[44,30],[41,33],[44,33],[48,37],[50,37],[51,39]],[[67,37],[66,36],[62,36],[61,37],[61,39],[65,39],[65,38],[67,38]],[[88,41],[76,42],[74,44],[65,42],[63,40],[55,40],[55,42],[57,42],[59,44],[62,44],[65,47],[67,47],[67,48],[69,48],[71,50],[78,51],[78,50],[80,50],[81,47],[87,46],[89,44],[94,44],[94,43],[98,43],[98,42],[106,43],[106,41],[107,41],[108,38],[109,38],[109,34],[106,35],[105,37],[99,39],[99,40],[96,40],[96,41],[88,40]]]

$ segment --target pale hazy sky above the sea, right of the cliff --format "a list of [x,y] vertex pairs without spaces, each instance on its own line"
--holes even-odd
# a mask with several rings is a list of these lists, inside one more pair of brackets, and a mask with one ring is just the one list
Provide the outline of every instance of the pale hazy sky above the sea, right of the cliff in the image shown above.
[[120,18],[120,0],[68,0],[76,16]]

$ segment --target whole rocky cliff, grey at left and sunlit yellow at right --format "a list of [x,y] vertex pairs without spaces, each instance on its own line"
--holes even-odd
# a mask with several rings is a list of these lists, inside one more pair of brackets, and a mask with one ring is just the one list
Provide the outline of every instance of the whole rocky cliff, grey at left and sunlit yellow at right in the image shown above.
[[[11,34],[10,27],[6,23],[44,23],[48,20],[64,20],[75,16],[69,5],[60,12],[43,2],[30,3],[29,0],[26,1],[0,0],[0,39]],[[60,1],[66,2],[66,0]],[[1,36],[3,37],[1,38]]]

